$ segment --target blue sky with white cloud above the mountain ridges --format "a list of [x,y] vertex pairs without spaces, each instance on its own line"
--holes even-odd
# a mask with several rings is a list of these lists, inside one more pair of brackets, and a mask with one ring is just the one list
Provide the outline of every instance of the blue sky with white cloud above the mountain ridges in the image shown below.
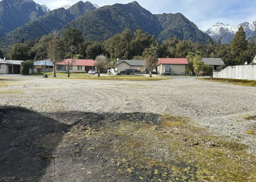
[[[75,4],[79,0],[34,1],[55,9],[62,5]],[[125,4],[131,1],[91,0],[90,2],[104,6],[115,3]],[[255,0],[137,0],[137,2],[153,14],[180,12],[202,30],[207,30],[217,22],[237,25],[245,21],[256,21]]]

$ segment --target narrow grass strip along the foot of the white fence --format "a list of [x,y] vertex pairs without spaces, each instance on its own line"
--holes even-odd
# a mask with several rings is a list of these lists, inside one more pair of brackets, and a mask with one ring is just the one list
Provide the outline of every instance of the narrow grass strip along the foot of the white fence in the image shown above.
[[203,78],[202,80],[256,87],[256,80],[238,80],[238,79],[226,79],[226,78]]

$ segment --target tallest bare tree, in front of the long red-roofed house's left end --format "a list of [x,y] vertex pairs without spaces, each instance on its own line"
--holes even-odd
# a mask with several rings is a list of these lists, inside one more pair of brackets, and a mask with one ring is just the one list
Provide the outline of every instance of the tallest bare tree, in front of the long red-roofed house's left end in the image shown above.
[[51,40],[48,43],[47,54],[50,61],[53,63],[53,77],[56,77],[56,63],[62,61],[63,50],[61,46],[61,39],[58,36],[58,31],[53,30],[50,33]]

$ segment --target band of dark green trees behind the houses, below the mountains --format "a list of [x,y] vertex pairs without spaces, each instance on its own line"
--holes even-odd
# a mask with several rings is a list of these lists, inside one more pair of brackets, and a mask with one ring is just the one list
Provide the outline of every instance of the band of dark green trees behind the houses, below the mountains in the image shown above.
[[[56,31],[55,31],[56,32]],[[49,59],[49,47],[53,41],[52,33],[35,40],[20,39],[8,50],[0,51],[0,56],[12,60],[43,60]],[[98,55],[109,58],[109,66],[114,66],[114,57],[119,59],[144,59],[149,53],[158,58],[222,58],[226,66],[241,65],[251,62],[256,54],[255,37],[246,40],[242,27],[231,41],[231,44],[221,44],[209,39],[207,43],[180,40],[177,36],[159,43],[154,36],[138,29],[134,34],[126,29],[113,37],[101,42],[84,39],[82,32],[76,28],[65,30],[64,34],[56,35],[58,51],[61,59],[95,59]],[[191,55],[193,55],[193,59]],[[196,58],[194,58],[196,57]],[[196,72],[196,69],[193,69]]]

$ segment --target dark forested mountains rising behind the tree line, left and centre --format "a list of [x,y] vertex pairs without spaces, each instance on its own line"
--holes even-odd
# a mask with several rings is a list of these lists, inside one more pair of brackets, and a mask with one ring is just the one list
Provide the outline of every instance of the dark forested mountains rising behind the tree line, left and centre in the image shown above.
[[[132,32],[142,29],[144,32],[154,35],[158,41],[166,40],[174,35],[182,40],[207,42],[208,39],[211,39],[181,13],[153,15],[136,1],[99,8],[89,1],[85,3],[79,1],[71,7],[65,6],[50,11],[49,8],[39,5],[33,0],[2,0],[0,1],[0,13],[8,12],[6,5],[10,8],[14,6],[15,9],[9,20],[0,16],[1,46],[16,43],[22,37],[25,41],[42,37],[53,29],[63,33],[65,29],[71,27],[78,28],[86,40],[93,41],[106,40],[127,28]],[[15,13],[16,9],[20,9],[21,12],[26,10],[26,16],[21,17],[19,13]],[[5,17],[8,17],[7,14]],[[19,19],[22,18],[24,20],[20,21]],[[19,24],[16,23],[8,28],[6,22],[12,20]]]

